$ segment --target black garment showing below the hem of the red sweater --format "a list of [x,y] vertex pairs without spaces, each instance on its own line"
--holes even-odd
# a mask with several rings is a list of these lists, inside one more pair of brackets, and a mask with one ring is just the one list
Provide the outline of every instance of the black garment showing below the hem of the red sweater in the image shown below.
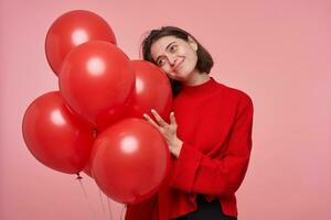
[[177,220],[237,220],[223,213],[218,199],[209,202],[203,195],[196,195],[197,210]]

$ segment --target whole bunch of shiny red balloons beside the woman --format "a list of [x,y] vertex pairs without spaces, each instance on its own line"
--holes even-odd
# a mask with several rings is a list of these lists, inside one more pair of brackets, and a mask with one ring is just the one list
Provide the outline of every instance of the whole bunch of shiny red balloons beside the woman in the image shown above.
[[22,132],[33,156],[58,172],[89,174],[116,201],[152,196],[170,154],[142,114],[156,109],[169,120],[168,77],[151,63],[130,61],[108,23],[84,10],[54,21],[45,54],[60,90],[38,97],[25,111]]

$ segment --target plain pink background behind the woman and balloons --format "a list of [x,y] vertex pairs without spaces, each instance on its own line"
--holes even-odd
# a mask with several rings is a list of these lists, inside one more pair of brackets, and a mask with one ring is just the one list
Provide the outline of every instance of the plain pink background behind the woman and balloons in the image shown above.
[[[110,219],[107,199],[84,175],[40,164],[21,134],[23,113],[57,89],[44,40],[62,13],[90,10],[109,22],[119,46],[139,57],[142,33],[178,25],[215,59],[212,76],[254,100],[254,148],[238,190],[241,220],[331,219],[331,2],[58,1],[0,3],[0,219]],[[122,206],[110,201],[114,219]],[[106,210],[105,210],[106,209]]]

